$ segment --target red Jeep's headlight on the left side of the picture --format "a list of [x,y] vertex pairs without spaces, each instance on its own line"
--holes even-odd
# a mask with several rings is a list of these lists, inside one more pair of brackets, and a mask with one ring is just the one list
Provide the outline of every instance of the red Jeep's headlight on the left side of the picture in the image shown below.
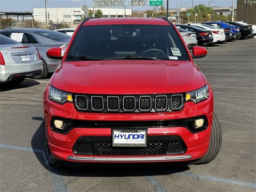
[[56,103],[73,102],[72,94],[49,86],[48,98]]

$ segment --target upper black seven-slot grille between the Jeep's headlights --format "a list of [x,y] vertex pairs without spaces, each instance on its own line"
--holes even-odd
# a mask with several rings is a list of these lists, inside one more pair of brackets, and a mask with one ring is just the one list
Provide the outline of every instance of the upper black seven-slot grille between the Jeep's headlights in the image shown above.
[[76,109],[86,112],[169,112],[180,110],[183,105],[183,94],[75,96]]

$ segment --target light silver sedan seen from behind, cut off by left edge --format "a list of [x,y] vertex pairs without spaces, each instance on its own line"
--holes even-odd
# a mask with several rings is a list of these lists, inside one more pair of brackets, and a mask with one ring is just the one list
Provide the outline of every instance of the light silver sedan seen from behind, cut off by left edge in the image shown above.
[[0,35],[0,82],[21,83],[24,78],[40,76],[43,63],[38,50]]

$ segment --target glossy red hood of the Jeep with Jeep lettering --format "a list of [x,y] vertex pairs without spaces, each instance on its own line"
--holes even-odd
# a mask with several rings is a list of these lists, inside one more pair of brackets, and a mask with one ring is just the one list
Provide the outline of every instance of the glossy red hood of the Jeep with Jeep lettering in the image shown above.
[[82,61],[64,62],[51,85],[84,94],[164,94],[196,90],[204,78],[189,61]]

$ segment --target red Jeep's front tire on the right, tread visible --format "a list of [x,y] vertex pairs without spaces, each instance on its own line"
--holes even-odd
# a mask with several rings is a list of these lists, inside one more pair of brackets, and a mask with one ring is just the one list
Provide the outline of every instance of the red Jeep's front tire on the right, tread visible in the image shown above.
[[220,152],[221,144],[222,128],[220,126],[220,120],[218,119],[217,115],[213,113],[212,132],[209,147],[205,156],[198,160],[196,164],[206,164],[214,160],[218,153]]

